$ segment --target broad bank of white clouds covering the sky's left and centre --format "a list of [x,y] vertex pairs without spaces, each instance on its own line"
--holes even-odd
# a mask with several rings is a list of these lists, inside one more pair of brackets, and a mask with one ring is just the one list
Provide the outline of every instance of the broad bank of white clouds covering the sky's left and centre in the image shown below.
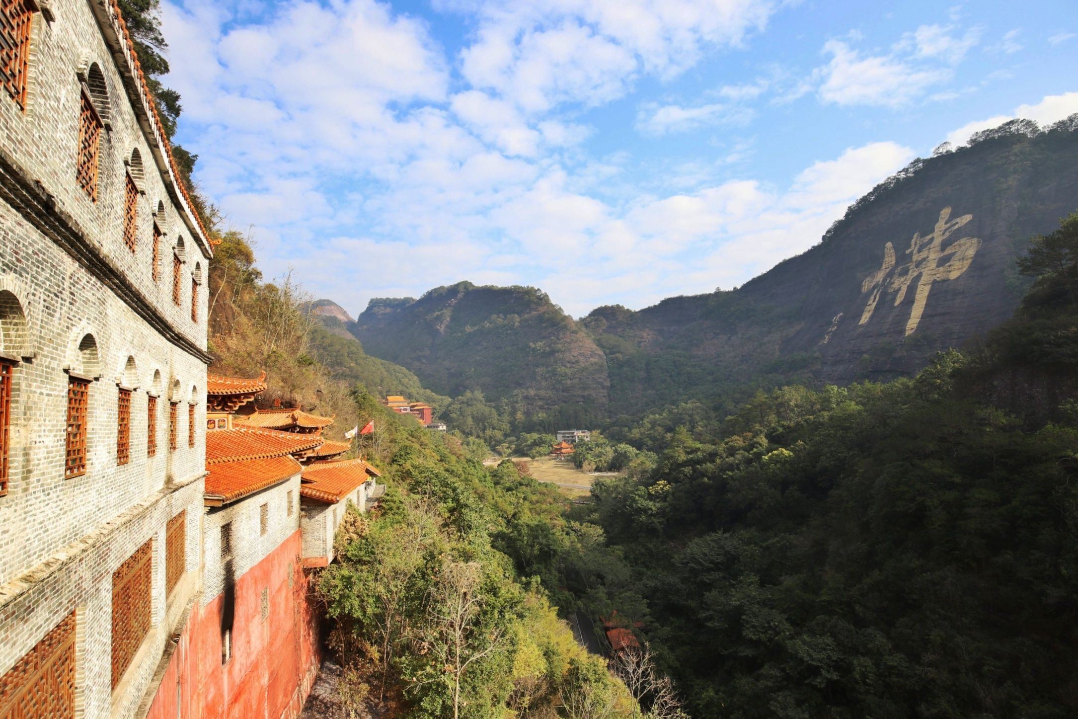
[[[770,2],[484,3],[456,70],[421,22],[373,0],[282,0],[268,17],[229,6],[164,5],[183,52],[166,84],[183,95],[197,179],[235,226],[254,226],[268,276],[292,266],[353,312],[460,279],[527,278],[576,315],[741,284],[818,241],[912,154],[853,148],[775,186],[723,181],[750,140],[644,179],[631,155],[577,147],[595,130],[575,112],[737,46]],[[641,123],[733,122],[765,89],[719,85]]]

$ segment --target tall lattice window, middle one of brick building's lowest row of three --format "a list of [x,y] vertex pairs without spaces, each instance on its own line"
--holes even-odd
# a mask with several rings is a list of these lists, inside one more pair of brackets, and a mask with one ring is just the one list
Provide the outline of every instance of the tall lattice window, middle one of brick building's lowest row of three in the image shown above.
[[153,540],[112,572],[112,688],[130,666],[150,631],[150,589],[153,581]]

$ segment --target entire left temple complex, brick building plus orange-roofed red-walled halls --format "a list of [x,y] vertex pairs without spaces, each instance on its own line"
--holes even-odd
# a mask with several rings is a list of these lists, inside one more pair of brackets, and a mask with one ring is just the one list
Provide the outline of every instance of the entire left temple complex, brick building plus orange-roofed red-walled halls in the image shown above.
[[294,717],[376,472],[207,375],[212,246],[115,0],[0,0],[0,718]]

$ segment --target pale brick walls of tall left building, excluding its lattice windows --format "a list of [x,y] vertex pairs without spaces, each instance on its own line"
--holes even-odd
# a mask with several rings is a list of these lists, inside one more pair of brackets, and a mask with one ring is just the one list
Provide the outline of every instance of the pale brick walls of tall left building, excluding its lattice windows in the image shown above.
[[[52,0],[49,8],[52,22],[42,13],[32,20],[26,110],[0,93],[0,354],[20,360],[12,373],[9,490],[0,496],[0,675],[75,611],[77,716],[129,717],[153,691],[162,653],[201,585],[205,284],[197,322],[191,292],[193,278],[208,275],[209,250],[137,93],[132,101],[130,67],[113,60],[123,61],[124,46],[110,4]],[[82,81],[95,65],[108,96],[99,108],[106,129],[96,202],[75,180]],[[135,156],[142,168],[133,172],[140,190],[133,252],[123,218]],[[164,233],[157,281],[155,219]],[[176,304],[172,252],[180,247]],[[96,381],[87,469],[65,479],[69,372]],[[120,385],[134,389],[125,465],[116,457]],[[150,393],[158,397],[154,457]],[[175,451],[169,401],[179,402]],[[165,526],[181,511],[186,571],[166,597]],[[151,538],[151,627],[113,691],[112,572]]]

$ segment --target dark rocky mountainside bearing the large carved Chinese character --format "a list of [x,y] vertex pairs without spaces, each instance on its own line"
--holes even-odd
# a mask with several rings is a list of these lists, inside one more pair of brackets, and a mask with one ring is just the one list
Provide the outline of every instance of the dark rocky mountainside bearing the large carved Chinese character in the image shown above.
[[[908,375],[1010,317],[1027,286],[1014,259],[1078,209],[1078,117],[1031,125],[915,162],[738,290],[593,312],[581,324],[607,355],[612,410]],[[676,378],[651,391],[663,372]]]

